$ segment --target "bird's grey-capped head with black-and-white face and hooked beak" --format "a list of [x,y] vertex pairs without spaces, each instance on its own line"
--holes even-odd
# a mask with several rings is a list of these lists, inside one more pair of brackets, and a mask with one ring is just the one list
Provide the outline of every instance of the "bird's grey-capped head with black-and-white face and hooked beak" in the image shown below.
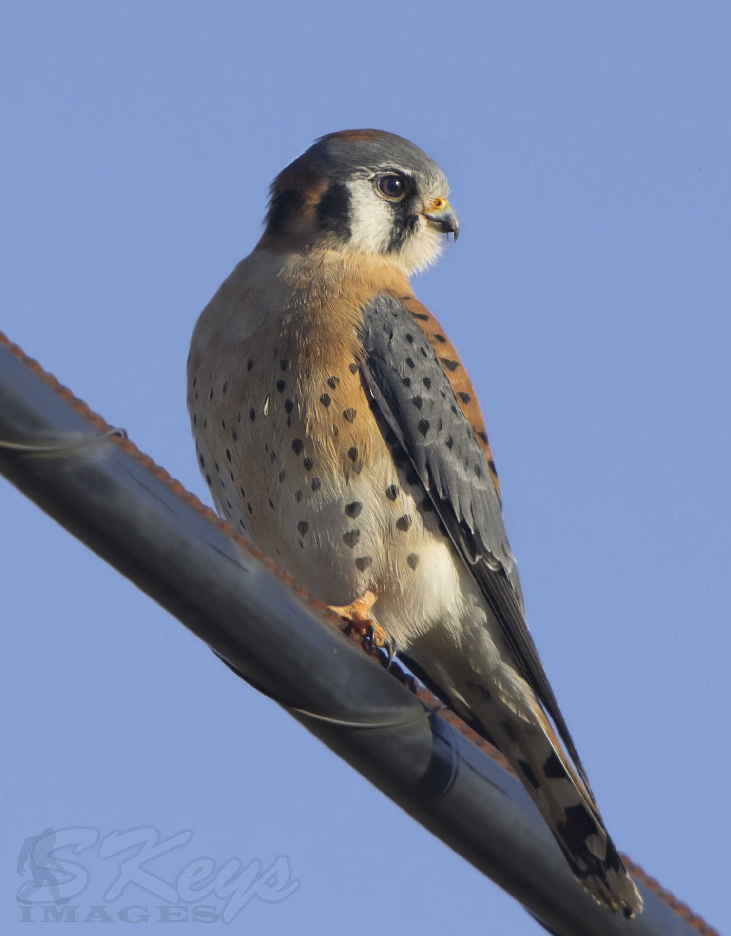
[[382,130],[321,137],[279,173],[260,246],[323,247],[389,256],[407,274],[459,232],[441,169],[408,139]]

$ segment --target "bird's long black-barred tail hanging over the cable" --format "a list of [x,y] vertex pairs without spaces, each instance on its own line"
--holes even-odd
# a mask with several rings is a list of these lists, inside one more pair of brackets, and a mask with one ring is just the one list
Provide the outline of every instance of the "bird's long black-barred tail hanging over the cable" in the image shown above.
[[621,910],[626,917],[638,914],[642,910],[638,889],[609,838],[591,791],[566,757],[538,702],[536,724],[526,723],[494,701],[475,700],[472,709],[523,781],[581,885],[609,910]]

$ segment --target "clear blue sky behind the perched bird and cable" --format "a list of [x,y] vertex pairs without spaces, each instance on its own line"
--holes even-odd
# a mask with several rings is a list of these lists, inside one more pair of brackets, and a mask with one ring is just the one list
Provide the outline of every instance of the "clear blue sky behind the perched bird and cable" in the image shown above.
[[[729,37],[724,2],[0,9],[0,328],[204,501],[188,342],[274,174],[347,127],[437,159],[462,233],[416,291],[485,410],[538,649],[618,845],[721,929]],[[289,856],[299,890],[236,931],[540,931],[4,481],[0,522],[3,931],[27,836],[146,825],[193,829],[169,878]]]

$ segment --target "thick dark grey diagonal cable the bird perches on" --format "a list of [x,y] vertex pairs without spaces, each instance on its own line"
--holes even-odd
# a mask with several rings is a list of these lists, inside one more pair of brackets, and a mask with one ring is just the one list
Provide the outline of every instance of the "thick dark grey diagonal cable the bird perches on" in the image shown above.
[[[583,891],[523,787],[322,616],[291,578],[0,333],[0,473],[559,936],[714,933],[657,896]],[[318,610],[320,608],[320,610]],[[659,889],[659,888],[655,888]]]

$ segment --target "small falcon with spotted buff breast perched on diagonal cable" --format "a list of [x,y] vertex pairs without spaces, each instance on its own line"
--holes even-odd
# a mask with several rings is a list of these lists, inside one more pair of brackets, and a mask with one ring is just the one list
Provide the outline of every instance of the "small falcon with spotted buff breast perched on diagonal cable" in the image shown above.
[[506,754],[581,884],[631,916],[525,622],[480,407],[409,285],[457,237],[448,196],[433,160],[378,130],[322,137],[279,173],[261,241],[193,333],[198,461],[223,517]]

